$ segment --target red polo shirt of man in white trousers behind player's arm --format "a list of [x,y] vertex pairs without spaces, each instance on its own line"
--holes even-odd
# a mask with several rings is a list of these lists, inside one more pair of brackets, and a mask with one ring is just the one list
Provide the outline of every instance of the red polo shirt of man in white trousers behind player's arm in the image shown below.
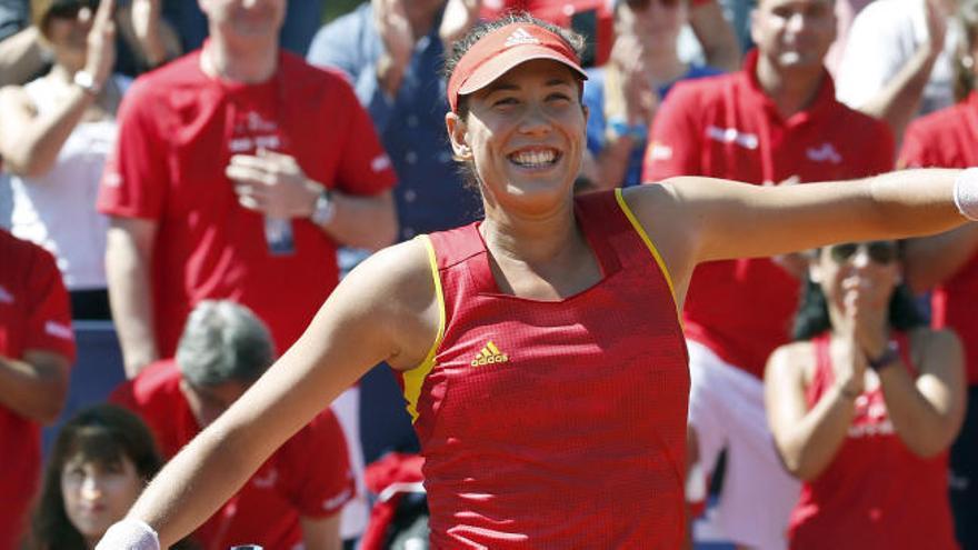
[[[672,88],[652,124],[643,181],[707,176],[771,184],[892,169],[889,129],[836,101],[828,72],[812,103],[784,120],[757,82],[757,57],[749,53],[737,73]],[[768,258],[702,263],[686,299],[686,334],[761,378],[768,356],[788,342],[798,290],[798,279]]]

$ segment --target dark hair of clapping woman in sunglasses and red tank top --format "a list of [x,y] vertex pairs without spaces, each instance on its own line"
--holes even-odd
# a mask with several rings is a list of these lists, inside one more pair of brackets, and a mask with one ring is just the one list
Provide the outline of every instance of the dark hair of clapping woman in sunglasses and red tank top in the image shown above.
[[[820,254],[821,250],[817,250]],[[925,326],[924,317],[917,309],[914,293],[901,282],[894,289],[889,304],[889,324],[896,330],[906,331]],[[795,316],[792,336],[795,340],[810,340],[832,328],[829,308],[821,287],[806,277],[801,287],[801,300]]]

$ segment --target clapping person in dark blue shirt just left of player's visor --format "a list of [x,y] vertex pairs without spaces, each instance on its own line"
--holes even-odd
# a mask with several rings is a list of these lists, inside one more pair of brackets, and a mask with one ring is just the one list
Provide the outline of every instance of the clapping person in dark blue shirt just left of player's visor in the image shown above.
[[476,193],[451,160],[445,131],[445,44],[477,13],[461,1],[373,0],[322,28],[308,60],[349,74],[398,174],[400,240],[466,224]]

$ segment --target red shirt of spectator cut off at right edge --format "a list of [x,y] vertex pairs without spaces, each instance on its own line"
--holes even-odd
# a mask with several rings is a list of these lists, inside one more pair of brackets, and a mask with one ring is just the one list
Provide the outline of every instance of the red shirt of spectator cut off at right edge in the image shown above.
[[[904,136],[899,164],[908,168],[978,166],[978,93],[919,118]],[[978,252],[931,293],[935,328],[950,327],[961,336],[968,383],[978,384]]]

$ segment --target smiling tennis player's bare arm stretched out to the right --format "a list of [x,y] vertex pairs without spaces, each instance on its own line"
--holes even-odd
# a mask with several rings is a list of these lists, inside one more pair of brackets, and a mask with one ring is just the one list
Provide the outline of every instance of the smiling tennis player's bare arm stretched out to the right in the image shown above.
[[[629,188],[623,194],[661,253],[681,304],[692,269],[705,261],[766,258],[961,226],[967,218],[954,199],[960,173],[902,170],[861,180],[777,187],[678,177]],[[965,187],[978,197],[978,181],[969,179]]]

